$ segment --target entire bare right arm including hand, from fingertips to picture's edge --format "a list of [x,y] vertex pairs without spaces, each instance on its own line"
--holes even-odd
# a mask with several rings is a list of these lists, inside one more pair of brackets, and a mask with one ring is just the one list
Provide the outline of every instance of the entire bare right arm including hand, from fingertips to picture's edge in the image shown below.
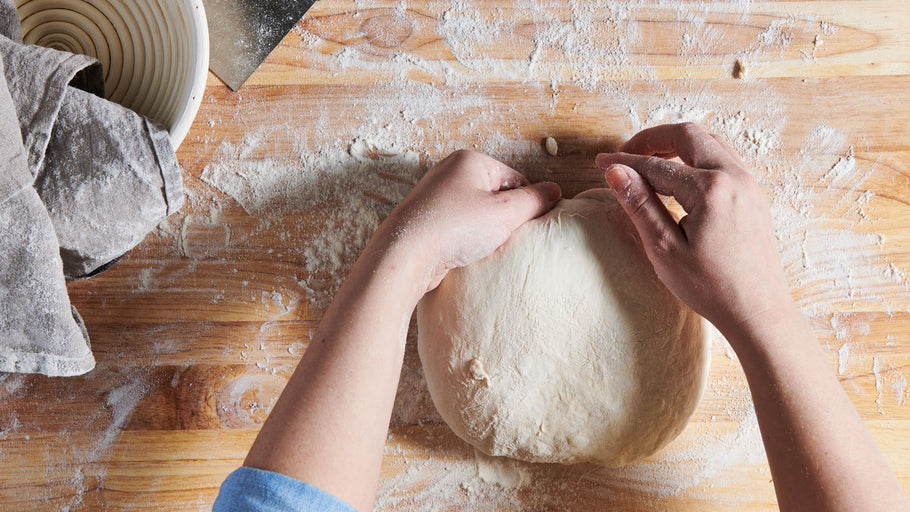
[[[780,509],[910,510],[790,297],[767,200],[739,157],[688,123],[640,132],[621,151],[597,165],[658,276],[739,356]],[[677,223],[655,192],[687,215]]]

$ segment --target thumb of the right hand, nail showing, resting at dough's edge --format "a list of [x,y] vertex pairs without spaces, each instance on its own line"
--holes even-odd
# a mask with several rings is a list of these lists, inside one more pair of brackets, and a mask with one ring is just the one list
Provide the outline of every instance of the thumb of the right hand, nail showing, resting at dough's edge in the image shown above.
[[648,255],[667,252],[685,243],[685,234],[654,190],[625,165],[611,165],[604,177],[623,210],[632,219]]

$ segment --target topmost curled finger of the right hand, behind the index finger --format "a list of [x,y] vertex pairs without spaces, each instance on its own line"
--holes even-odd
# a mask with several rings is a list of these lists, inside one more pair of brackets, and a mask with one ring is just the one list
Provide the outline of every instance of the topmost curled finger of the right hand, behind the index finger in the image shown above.
[[730,163],[725,144],[695,123],[664,124],[635,134],[620,147],[624,153],[673,158],[700,169],[720,169]]

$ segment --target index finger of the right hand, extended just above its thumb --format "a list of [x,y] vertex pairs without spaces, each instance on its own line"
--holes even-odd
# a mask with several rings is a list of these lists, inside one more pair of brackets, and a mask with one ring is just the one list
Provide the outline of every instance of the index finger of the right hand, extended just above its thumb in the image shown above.
[[639,179],[644,177],[649,188],[653,187],[658,194],[675,197],[686,211],[698,204],[700,193],[695,179],[700,172],[698,169],[657,156],[629,153],[601,153],[594,161],[602,171],[617,164],[631,167],[633,174],[640,175]]

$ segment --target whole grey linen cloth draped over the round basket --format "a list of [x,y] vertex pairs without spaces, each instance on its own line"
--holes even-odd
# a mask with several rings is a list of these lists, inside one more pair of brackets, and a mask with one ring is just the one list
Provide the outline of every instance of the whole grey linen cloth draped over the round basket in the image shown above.
[[65,277],[106,269],[183,204],[167,132],[102,97],[89,57],[23,45],[0,0],[0,371],[94,367]]

